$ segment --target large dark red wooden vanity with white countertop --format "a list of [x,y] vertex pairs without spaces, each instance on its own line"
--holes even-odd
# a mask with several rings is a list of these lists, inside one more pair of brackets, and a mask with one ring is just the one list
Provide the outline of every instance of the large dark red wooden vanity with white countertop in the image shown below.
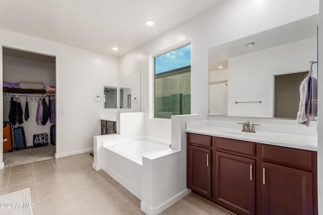
[[192,192],[237,214],[317,214],[315,147],[285,146],[301,136],[286,135],[280,143],[275,135],[284,134],[219,129],[186,130]]

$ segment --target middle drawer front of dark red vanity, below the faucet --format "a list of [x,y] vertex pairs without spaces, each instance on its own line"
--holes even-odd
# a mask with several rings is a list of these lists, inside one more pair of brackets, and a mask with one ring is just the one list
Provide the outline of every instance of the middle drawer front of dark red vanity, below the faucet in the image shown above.
[[256,143],[222,137],[212,137],[217,151],[256,156]]

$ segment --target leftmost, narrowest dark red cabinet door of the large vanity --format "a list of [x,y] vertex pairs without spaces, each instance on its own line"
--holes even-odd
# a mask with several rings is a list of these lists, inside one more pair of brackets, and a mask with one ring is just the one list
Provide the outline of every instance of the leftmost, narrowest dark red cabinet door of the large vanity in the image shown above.
[[188,146],[187,187],[203,197],[211,197],[211,150]]

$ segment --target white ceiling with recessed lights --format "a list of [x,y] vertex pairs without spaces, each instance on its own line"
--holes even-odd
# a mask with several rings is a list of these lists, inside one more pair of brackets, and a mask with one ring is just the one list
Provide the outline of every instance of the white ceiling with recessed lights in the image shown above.
[[1,0],[0,28],[121,56],[221,1]]

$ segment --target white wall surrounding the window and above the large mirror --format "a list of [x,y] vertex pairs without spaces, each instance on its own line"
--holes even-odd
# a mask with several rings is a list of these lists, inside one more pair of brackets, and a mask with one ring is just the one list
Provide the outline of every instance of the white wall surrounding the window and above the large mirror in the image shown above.
[[[318,13],[318,0],[226,0],[201,15],[125,54],[120,76],[141,71],[141,110],[147,112],[146,133],[171,137],[171,121],[148,118],[151,55],[191,41],[191,113],[208,113],[208,49]],[[157,23],[155,25],[157,26]]]

